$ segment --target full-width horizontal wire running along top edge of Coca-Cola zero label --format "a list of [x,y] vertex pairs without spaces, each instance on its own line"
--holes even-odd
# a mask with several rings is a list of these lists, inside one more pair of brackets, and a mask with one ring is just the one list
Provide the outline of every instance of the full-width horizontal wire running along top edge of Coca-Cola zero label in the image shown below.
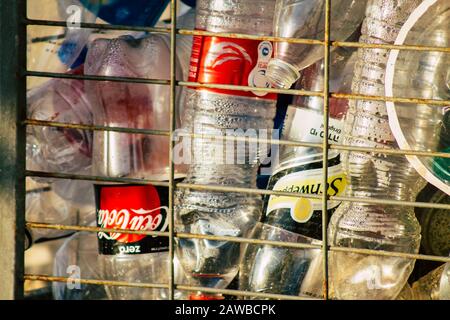
[[[100,181],[100,182],[153,184],[155,186],[165,186],[165,187],[168,186],[168,182],[166,182],[166,181],[155,181],[155,180],[133,179],[133,178],[110,178],[110,177],[101,177],[101,176],[89,176],[89,175],[56,173],[56,172],[45,172],[45,171],[27,170],[25,172],[25,175],[33,176],[33,177],[43,177],[43,178],[62,178],[62,179],[88,180],[88,181]],[[322,198],[321,195],[316,195],[316,194],[243,188],[243,187],[237,187],[237,186],[223,186],[223,185],[209,185],[209,184],[203,185],[203,184],[192,184],[192,183],[184,183],[184,182],[178,182],[175,184],[175,186],[177,188],[194,189],[194,190],[223,191],[223,192],[235,192],[235,193],[242,192],[242,193],[248,193],[248,194],[274,195],[274,196],[285,196],[285,197],[305,198],[305,199],[321,199]],[[370,203],[370,204],[383,204],[383,205],[393,205],[393,206],[408,206],[408,207],[417,207],[417,208],[432,208],[432,209],[445,209],[445,210],[450,209],[450,204],[402,201],[402,200],[391,200],[391,199],[330,196],[329,200],[349,201],[349,202],[357,202],[357,203]]]

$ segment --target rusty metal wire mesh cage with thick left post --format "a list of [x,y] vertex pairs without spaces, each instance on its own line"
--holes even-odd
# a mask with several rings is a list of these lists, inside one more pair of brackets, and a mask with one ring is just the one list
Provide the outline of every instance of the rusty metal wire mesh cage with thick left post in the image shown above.
[[[58,225],[50,224],[45,221],[31,222],[25,221],[25,179],[26,177],[44,177],[44,178],[62,178],[74,180],[87,180],[97,182],[115,182],[115,183],[133,183],[133,184],[153,184],[166,186],[169,188],[169,227],[167,232],[155,231],[131,231],[120,230],[124,234],[139,234],[139,235],[158,235],[169,238],[169,258],[173,261],[174,257],[174,243],[175,239],[195,238],[195,239],[209,239],[231,241],[237,243],[248,244],[266,244],[272,246],[279,246],[285,248],[315,248],[322,251],[323,257],[323,297],[329,298],[329,275],[328,275],[328,254],[329,252],[353,252],[366,255],[375,256],[392,256],[410,259],[421,259],[438,262],[450,262],[449,257],[433,256],[423,254],[410,254],[401,252],[390,252],[383,250],[357,249],[330,246],[327,237],[327,222],[328,222],[328,201],[347,201],[360,202],[369,204],[383,204],[392,206],[407,206],[415,208],[433,208],[433,209],[450,209],[448,204],[428,203],[428,202],[414,202],[414,201],[398,201],[393,199],[377,199],[367,197],[348,197],[348,196],[329,196],[325,192],[322,195],[313,194],[297,194],[292,192],[261,190],[252,188],[242,188],[238,186],[218,186],[218,185],[198,185],[191,183],[179,182],[175,179],[173,149],[176,129],[176,89],[177,86],[192,87],[192,88],[215,88],[215,89],[232,89],[253,92],[271,92],[299,96],[315,96],[323,99],[323,124],[324,136],[329,133],[329,100],[335,99],[349,99],[349,100],[366,100],[366,101],[391,101],[404,104],[426,104],[428,106],[448,106],[448,100],[436,99],[418,99],[406,97],[387,97],[387,96],[367,96],[360,94],[347,94],[339,92],[330,92],[329,74],[330,74],[330,52],[337,47],[350,48],[372,48],[372,49],[390,49],[390,50],[410,50],[410,51],[432,51],[441,52],[444,54],[450,53],[448,47],[431,47],[419,45],[382,45],[382,44],[367,44],[361,42],[345,42],[345,41],[331,41],[330,39],[330,0],[325,1],[325,33],[324,40],[311,39],[296,39],[296,38],[280,38],[280,37],[263,37],[248,34],[231,34],[231,33],[213,33],[200,30],[186,30],[177,29],[176,16],[177,8],[176,1],[170,2],[171,27],[170,28],[149,28],[149,27],[133,27],[124,25],[109,25],[96,23],[81,23],[81,28],[91,28],[95,30],[122,30],[122,31],[146,31],[170,34],[170,79],[143,79],[130,77],[104,77],[92,75],[77,75],[77,74],[63,74],[53,72],[41,72],[27,70],[27,26],[58,26],[65,27],[65,22],[59,21],[44,21],[28,19],[26,14],[26,0],[6,0],[0,3],[0,37],[1,37],[1,73],[0,73],[0,298],[13,299],[23,298],[24,296],[24,280],[43,280],[43,281],[60,281],[65,282],[68,278],[24,274],[24,239],[25,227],[28,228],[45,228],[55,230],[72,230],[72,231],[88,231],[88,232],[117,232],[117,229],[76,226],[76,225]],[[220,84],[205,84],[194,83],[188,81],[180,81],[176,78],[176,36],[177,35],[204,35],[204,36],[220,36],[225,38],[235,39],[252,39],[252,40],[267,40],[272,42],[288,42],[296,44],[307,44],[314,46],[322,46],[324,52],[324,85],[323,91],[307,91],[294,89],[273,89],[273,88],[255,88],[250,86],[236,86],[236,85],[220,85]],[[44,77],[44,78],[66,78],[66,79],[82,79],[82,80],[96,80],[96,81],[115,81],[115,82],[129,82],[142,84],[161,84],[170,87],[170,129],[169,130],[150,130],[150,129],[133,129],[124,127],[108,127],[99,125],[86,124],[68,124],[52,121],[39,121],[28,119],[26,116],[26,81],[28,77]],[[25,166],[25,144],[26,144],[26,128],[27,126],[49,126],[57,128],[72,128],[94,131],[112,131],[123,133],[139,133],[145,135],[161,135],[169,137],[170,141],[170,174],[167,182],[153,181],[146,179],[133,178],[110,178],[91,175],[68,174],[64,172],[41,172],[26,170]],[[195,134],[187,134],[195,136]],[[228,137],[224,138],[228,139]],[[239,140],[241,138],[230,137],[229,139]],[[243,141],[251,141],[252,138],[242,138]],[[257,139],[261,142],[261,139]],[[270,144],[285,145],[290,147],[308,146],[321,148],[323,152],[323,159],[328,159],[330,150],[346,150],[357,151],[362,153],[382,153],[387,155],[410,155],[417,157],[442,157],[450,158],[449,153],[445,152],[427,152],[417,150],[397,150],[397,149],[377,149],[368,147],[356,147],[343,144],[330,144],[327,139],[323,139],[323,143],[308,143],[289,140],[275,140],[266,139],[262,142]],[[328,167],[327,161],[323,161],[323,184],[327,184]],[[213,236],[202,234],[191,234],[176,232],[174,229],[174,192],[176,189],[188,188],[193,190],[209,190],[222,192],[240,192],[257,195],[277,195],[288,197],[305,197],[311,199],[318,199],[322,203],[322,243],[320,245],[301,244],[282,241],[269,241],[252,238],[232,237],[232,236]],[[80,279],[82,284],[98,284],[108,286],[129,286],[140,288],[165,288],[168,290],[168,298],[174,298],[175,290],[185,291],[202,291],[206,293],[222,293],[239,297],[257,297],[257,298],[272,298],[272,299],[304,299],[299,296],[290,296],[282,294],[268,294],[258,293],[242,290],[231,289],[214,289],[207,287],[194,287],[189,285],[181,285],[175,283],[174,266],[171,264],[169,270],[169,279],[167,283],[152,284],[152,283],[129,283],[123,281],[110,281],[98,279]]]

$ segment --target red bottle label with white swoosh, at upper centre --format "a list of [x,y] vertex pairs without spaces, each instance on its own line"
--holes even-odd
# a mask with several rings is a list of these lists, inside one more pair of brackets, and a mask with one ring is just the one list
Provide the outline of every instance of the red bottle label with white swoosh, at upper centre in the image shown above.
[[[273,56],[270,41],[194,36],[189,81],[270,88],[267,65]],[[216,93],[276,100],[267,92],[197,88]]]

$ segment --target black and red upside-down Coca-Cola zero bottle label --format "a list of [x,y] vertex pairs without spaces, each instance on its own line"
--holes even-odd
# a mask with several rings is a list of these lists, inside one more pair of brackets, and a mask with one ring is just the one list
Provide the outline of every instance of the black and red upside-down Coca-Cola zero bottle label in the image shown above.
[[[165,231],[168,188],[152,185],[95,185],[97,226],[108,229]],[[98,232],[99,253],[143,254],[169,250],[169,238]]]

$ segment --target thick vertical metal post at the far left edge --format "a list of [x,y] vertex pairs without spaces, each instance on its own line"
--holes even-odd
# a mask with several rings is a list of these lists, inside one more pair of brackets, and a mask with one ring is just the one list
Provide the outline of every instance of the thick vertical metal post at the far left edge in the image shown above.
[[0,300],[23,298],[25,0],[0,1]]

